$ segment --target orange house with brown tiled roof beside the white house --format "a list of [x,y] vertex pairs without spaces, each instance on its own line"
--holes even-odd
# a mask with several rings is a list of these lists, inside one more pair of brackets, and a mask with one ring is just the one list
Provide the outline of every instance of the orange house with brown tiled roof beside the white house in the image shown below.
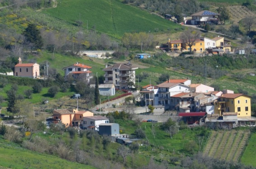
[[84,117],[93,116],[90,111],[78,111],[77,109],[58,109],[53,111],[53,122],[61,122],[66,127],[83,127]]

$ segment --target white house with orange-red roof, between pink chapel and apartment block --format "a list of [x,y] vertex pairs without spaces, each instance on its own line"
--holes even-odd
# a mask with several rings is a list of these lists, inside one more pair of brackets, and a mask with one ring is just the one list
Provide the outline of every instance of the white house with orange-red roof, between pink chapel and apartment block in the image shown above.
[[74,78],[76,76],[84,75],[85,78],[90,81],[91,78],[93,78],[92,71],[90,71],[92,67],[84,65],[84,63],[79,63],[76,62],[74,65],[64,67],[62,70],[65,72],[65,77],[68,76],[69,74],[72,74]]

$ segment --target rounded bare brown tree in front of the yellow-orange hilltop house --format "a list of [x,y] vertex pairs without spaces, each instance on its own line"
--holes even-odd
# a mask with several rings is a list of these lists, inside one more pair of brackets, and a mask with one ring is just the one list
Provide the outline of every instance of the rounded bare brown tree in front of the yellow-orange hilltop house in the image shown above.
[[180,39],[184,44],[189,46],[190,52],[191,52],[191,47],[195,44],[195,41],[200,38],[200,33],[197,30],[193,29],[187,29],[186,31],[182,32]]

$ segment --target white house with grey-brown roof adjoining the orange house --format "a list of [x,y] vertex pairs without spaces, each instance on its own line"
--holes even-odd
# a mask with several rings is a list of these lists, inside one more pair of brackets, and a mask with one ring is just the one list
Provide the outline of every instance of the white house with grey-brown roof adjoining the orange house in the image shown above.
[[99,124],[109,123],[109,119],[105,116],[88,116],[83,119],[83,129],[99,130]]

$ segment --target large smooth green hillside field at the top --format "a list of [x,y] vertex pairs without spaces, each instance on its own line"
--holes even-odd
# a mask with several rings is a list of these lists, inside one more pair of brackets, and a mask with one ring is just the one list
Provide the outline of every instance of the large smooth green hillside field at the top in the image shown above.
[[82,27],[120,37],[125,32],[174,31],[180,26],[120,0],[61,0],[56,8],[45,14],[71,24],[83,22]]

